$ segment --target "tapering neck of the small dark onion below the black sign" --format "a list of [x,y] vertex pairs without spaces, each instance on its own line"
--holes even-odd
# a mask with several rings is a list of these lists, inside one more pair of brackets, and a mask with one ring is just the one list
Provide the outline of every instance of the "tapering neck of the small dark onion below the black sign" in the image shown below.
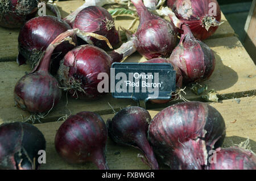
[[150,168],[152,170],[159,170],[158,162],[156,161],[155,154],[152,150],[152,147],[150,146],[146,136],[144,134],[139,134],[137,136],[137,140],[135,140],[135,143],[141,149],[148,161],[148,164],[150,165]]

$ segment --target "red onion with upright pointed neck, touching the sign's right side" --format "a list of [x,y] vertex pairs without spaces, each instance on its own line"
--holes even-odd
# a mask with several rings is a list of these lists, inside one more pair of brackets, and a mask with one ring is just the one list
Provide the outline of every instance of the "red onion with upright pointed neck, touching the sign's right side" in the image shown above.
[[182,30],[180,43],[169,60],[180,68],[185,83],[204,81],[214,71],[214,53],[202,41],[195,39],[188,26],[183,24]]

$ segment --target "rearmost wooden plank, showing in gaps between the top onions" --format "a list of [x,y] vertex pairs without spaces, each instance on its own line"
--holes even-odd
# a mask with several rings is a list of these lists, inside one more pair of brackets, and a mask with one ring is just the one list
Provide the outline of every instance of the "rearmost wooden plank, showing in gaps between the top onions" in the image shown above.
[[[61,16],[64,18],[67,16],[71,11],[77,9],[77,7],[81,6],[84,3],[83,0],[73,0],[73,1],[57,1],[56,4],[59,6]],[[113,6],[106,6],[111,8]],[[47,11],[48,15],[52,15],[51,12]],[[116,20],[116,27],[129,27],[131,23],[131,18],[117,18]],[[210,39],[214,39],[217,37],[226,37],[226,36],[233,36],[234,30],[226,20],[224,14],[222,14],[221,18],[222,24],[218,30],[210,37]],[[138,26],[138,23],[137,23]],[[136,27],[135,27],[136,28]],[[18,55],[18,35],[19,30],[11,30],[0,27],[0,61],[15,61],[16,56]]]

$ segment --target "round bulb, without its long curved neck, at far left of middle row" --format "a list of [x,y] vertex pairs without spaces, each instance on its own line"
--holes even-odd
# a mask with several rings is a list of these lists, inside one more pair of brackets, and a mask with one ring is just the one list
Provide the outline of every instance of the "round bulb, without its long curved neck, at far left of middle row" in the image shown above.
[[61,89],[56,78],[47,71],[24,75],[14,88],[14,101],[18,107],[31,113],[44,113],[61,98]]

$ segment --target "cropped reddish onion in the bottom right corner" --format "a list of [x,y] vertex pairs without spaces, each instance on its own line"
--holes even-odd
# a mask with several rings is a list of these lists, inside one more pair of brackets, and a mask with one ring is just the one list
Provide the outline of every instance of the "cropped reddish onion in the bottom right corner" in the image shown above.
[[209,170],[256,170],[256,156],[238,147],[219,149]]

